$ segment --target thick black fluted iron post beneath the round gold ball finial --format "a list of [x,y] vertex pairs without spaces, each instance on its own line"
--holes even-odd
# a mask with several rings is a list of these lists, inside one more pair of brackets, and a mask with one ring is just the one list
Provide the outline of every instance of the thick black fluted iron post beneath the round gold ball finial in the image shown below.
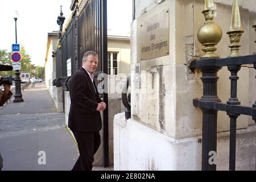
[[[216,163],[210,161],[210,152],[217,151],[217,110],[205,109],[207,105],[221,102],[217,96],[217,72],[221,67],[202,68],[203,97],[200,99],[200,109],[203,112],[202,133],[202,170],[216,170]],[[203,109],[204,108],[204,109]],[[216,153],[215,153],[216,154]]]

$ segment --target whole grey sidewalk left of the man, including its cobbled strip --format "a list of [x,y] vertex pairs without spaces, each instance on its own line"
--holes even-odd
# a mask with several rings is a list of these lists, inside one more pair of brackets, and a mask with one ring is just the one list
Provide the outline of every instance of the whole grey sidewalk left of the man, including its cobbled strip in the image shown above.
[[[71,170],[79,152],[64,127],[64,113],[57,113],[46,85],[36,83],[22,94],[24,102],[11,101],[0,107],[2,170]],[[46,164],[39,164],[43,161],[40,151],[46,154]]]

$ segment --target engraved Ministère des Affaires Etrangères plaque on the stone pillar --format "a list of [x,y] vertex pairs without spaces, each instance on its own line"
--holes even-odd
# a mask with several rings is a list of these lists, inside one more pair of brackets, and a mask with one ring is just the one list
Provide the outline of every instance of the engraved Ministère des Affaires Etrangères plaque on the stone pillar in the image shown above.
[[138,19],[138,61],[169,55],[169,10],[152,17],[148,14]]

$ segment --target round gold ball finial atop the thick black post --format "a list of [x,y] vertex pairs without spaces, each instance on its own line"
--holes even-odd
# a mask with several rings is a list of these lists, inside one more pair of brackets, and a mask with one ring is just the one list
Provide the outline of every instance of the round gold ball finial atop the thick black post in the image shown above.
[[200,27],[197,33],[197,39],[204,46],[204,54],[200,56],[203,58],[218,58],[219,56],[214,53],[216,46],[222,38],[221,27],[213,22],[214,18],[214,3],[213,0],[205,0],[205,6],[202,13],[205,16],[206,22]]

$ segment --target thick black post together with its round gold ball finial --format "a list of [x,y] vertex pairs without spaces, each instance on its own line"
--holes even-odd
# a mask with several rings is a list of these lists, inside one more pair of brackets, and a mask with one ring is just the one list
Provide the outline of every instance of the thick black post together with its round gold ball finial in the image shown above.
[[[197,34],[199,42],[205,46],[204,54],[201,59],[218,58],[214,53],[217,50],[216,46],[222,38],[222,30],[218,24],[213,22],[214,18],[214,3],[213,0],[206,0],[205,7],[202,13],[205,16],[205,23],[200,27]],[[207,109],[207,105],[212,105],[214,102],[221,102],[217,96],[217,72],[221,67],[204,67],[201,68],[203,76],[203,97],[200,99],[200,109],[203,112],[203,131],[202,131],[202,170],[216,170],[216,159],[210,161],[209,157],[213,154],[216,156],[217,151],[217,110]],[[204,108],[204,109],[203,109]],[[213,153],[212,153],[213,152]]]

